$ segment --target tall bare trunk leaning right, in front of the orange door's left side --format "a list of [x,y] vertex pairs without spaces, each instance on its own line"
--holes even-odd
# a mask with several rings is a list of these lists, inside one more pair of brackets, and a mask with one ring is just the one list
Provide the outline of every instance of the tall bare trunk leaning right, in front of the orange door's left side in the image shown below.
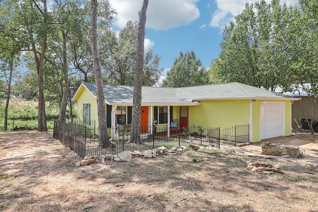
[[133,117],[132,117],[132,131],[130,134],[130,142],[141,143],[140,139],[140,122],[141,122],[141,90],[143,85],[144,72],[144,40],[145,40],[145,25],[146,12],[148,7],[148,0],[144,0],[143,6],[139,11],[138,23],[138,47],[137,47],[137,61],[133,97]]

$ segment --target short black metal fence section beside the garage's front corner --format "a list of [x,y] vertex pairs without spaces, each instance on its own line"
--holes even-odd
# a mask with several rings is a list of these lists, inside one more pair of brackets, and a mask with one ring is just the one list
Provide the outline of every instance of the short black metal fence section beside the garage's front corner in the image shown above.
[[245,143],[249,141],[249,125],[236,125],[223,129],[222,140],[236,145],[237,142]]

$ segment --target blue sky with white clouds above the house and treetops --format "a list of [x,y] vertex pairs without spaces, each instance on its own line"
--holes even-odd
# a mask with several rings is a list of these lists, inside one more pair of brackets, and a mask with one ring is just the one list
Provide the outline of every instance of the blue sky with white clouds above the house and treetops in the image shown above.
[[[120,31],[128,20],[138,20],[138,11],[143,0],[109,1],[118,12],[113,24],[116,31]],[[298,2],[285,1],[287,5]],[[245,2],[246,0],[149,0],[145,50],[152,48],[161,57],[160,68],[165,71],[172,67],[180,51],[185,53],[191,50],[194,50],[203,66],[208,68],[211,60],[218,58],[220,54],[223,27],[244,9]]]

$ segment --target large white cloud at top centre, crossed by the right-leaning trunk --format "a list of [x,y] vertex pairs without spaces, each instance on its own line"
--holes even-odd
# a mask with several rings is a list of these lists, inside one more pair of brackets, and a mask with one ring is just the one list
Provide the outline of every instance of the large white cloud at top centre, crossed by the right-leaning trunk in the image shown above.
[[[199,0],[151,0],[147,8],[146,27],[166,30],[185,26],[199,18],[196,5]],[[114,24],[123,28],[127,21],[138,20],[138,11],[142,0],[110,0],[110,4],[118,12]]]

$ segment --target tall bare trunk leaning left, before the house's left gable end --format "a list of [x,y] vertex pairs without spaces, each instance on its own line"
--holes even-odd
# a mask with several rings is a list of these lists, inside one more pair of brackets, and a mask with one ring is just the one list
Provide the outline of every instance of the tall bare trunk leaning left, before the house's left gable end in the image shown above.
[[107,132],[107,119],[105,109],[105,97],[103,90],[103,79],[101,76],[101,67],[97,47],[97,0],[91,0],[90,8],[90,45],[95,70],[95,85],[97,97],[97,115],[99,129],[99,145],[103,148],[111,146]]

